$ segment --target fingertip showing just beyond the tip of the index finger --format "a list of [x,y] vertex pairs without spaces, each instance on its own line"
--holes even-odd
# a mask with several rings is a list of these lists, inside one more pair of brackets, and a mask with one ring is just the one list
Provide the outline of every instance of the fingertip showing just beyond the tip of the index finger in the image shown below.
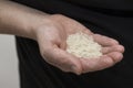
[[114,63],[117,63],[123,58],[123,54],[119,52],[112,52],[106,55],[110,56],[114,61]]

